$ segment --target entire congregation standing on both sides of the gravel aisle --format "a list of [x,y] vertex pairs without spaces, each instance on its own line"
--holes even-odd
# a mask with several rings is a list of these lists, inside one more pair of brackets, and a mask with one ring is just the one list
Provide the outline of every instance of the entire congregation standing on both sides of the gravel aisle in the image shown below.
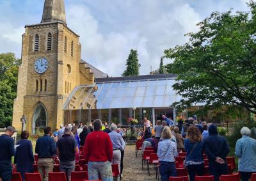
[[[179,152],[186,152],[184,167],[188,169],[189,180],[194,181],[195,175],[204,175],[204,153],[209,159],[209,172],[218,181],[220,175],[228,173],[226,157],[230,152],[225,137],[218,134],[213,123],[200,122],[189,118],[179,128],[175,123],[163,115],[163,121],[158,120],[154,128],[156,138],[152,138],[151,123],[144,120],[142,152],[146,147],[154,147],[159,157],[159,172],[161,181],[168,181],[169,177],[177,176],[175,157]],[[102,131],[102,127],[104,127]],[[14,146],[11,136],[15,128],[10,126],[5,134],[0,136],[0,178],[10,181],[12,169],[20,172],[24,180],[24,173],[33,173],[35,157],[29,132],[21,132],[21,140]],[[236,143],[236,156],[239,158],[238,171],[241,179],[248,181],[250,175],[256,172],[256,140],[250,138],[248,127],[241,129],[242,138]],[[184,139],[184,140],[183,140]],[[35,153],[38,155],[38,172],[48,181],[49,172],[53,171],[52,157],[60,159],[60,171],[70,180],[71,172],[79,159],[79,146],[83,147],[83,157],[88,162],[88,177],[90,180],[111,181],[113,173],[111,164],[118,164],[120,175],[123,171],[125,141],[118,127],[102,124],[101,120],[94,120],[90,125],[83,126],[74,123],[64,126],[52,133],[51,127],[44,128],[44,136],[36,141]],[[14,164],[12,157],[14,156]],[[122,178],[122,177],[120,177]],[[118,180],[120,179],[118,177]]]

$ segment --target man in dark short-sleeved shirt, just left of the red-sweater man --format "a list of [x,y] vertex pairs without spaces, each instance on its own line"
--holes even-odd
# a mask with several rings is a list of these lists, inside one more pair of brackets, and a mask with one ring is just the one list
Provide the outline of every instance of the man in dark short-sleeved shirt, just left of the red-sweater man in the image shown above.
[[70,127],[65,128],[65,134],[57,141],[56,150],[60,158],[60,171],[63,171],[70,181],[71,172],[75,171],[75,153],[79,152],[76,140],[71,136]]

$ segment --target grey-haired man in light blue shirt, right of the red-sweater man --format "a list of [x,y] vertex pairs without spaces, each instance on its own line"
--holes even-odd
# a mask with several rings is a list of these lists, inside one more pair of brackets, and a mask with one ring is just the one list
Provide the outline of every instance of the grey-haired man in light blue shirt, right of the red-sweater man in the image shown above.
[[122,175],[122,171],[124,168],[123,160],[124,160],[124,148],[125,148],[125,142],[121,134],[118,134],[116,132],[117,126],[115,124],[112,124],[111,132],[108,134],[110,136],[110,139],[113,143],[113,164],[118,164],[120,175]]

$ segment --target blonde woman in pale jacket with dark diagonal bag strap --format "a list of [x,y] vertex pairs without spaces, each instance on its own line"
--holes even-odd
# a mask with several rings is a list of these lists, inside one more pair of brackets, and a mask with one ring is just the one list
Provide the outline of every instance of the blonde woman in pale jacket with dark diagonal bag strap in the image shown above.
[[175,157],[178,156],[176,144],[171,141],[172,132],[170,127],[164,127],[157,149],[157,156],[160,163],[161,181],[168,181],[169,177],[177,175],[175,167]]

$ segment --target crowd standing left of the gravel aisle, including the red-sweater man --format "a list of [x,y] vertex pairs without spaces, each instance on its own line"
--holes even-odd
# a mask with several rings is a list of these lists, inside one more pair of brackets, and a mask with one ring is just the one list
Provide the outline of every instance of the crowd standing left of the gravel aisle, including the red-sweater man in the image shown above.
[[[102,127],[104,130],[102,131]],[[35,157],[28,131],[21,132],[21,140],[14,145],[12,135],[15,128],[10,126],[5,134],[0,136],[0,178],[10,181],[12,170],[15,168],[25,180],[25,173],[33,173]],[[35,153],[38,156],[38,172],[45,180],[49,180],[49,172],[53,171],[54,160],[58,156],[60,171],[64,172],[67,180],[71,180],[71,172],[79,162],[79,146],[84,146],[83,157],[88,162],[88,177],[90,180],[113,180],[111,164],[118,164],[122,178],[125,142],[117,126],[112,123],[102,124],[101,120],[94,120],[89,126],[74,123],[67,126],[60,125],[60,130],[52,133],[51,127],[44,128],[44,136],[36,140]],[[12,157],[14,156],[14,164]]]

